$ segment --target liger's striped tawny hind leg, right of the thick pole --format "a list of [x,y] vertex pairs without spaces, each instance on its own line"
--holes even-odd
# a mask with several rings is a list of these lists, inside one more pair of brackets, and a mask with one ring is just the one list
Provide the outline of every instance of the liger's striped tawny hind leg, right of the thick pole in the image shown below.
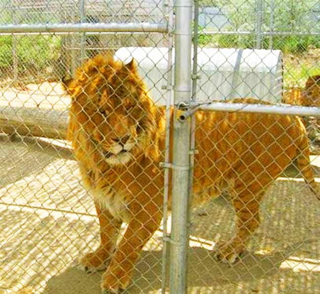
[[218,243],[216,257],[227,263],[234,263],[245,250],[245,243],[260,224],[259,203],[264,192],[256,196],[245,189],[232,200],[236,212],[236,235],[227,242]]

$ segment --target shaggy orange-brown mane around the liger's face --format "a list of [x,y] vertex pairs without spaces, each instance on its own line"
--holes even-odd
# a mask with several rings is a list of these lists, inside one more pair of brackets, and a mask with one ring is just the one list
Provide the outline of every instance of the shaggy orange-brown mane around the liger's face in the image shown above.
[[[133,59],[128,64],[124,64],[112,56],[97,55],[79,67],[73,79],[64,80],[64,87],[72,99],[70,118],[72,113],[76,114],[77,111],[80,111],[76,107],[77,101],[81,103],[81,99],[94,99],[93,97],[99,96],[104,87],[117,88],[121,83],[127,83],[138,89],[139,99],[144,105],[141,111],[145,111],[146,117],[144,125],[146,134],[140,147],[147,157],[158,160],[160,150],[163,148],[161,145],[164,140],[164,112],[150,98]],[[68,131],[70,139],[76,127],[79,126],[76,126],[71,119]]]

